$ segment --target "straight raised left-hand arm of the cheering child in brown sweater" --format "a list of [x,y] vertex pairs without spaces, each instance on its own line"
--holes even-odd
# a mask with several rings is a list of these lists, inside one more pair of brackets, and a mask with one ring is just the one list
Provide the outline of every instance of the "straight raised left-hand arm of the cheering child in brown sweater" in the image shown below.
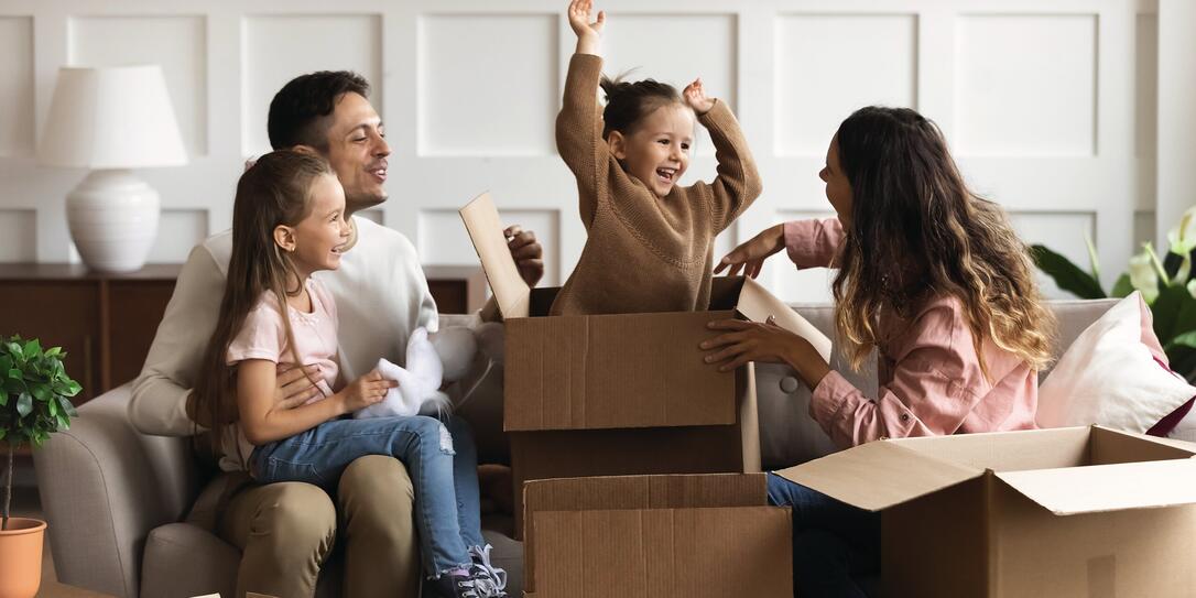
[[606,17],[599,12],[598,20],[590,23],[592,4],[590,0],[569,2],[569,25],[578,35],[578,48],[569,61],[561,114],[556,117],[556,148],[578,179],[578,208],[586,228],[593,222],[599,187],[604,187],[610,160],[602,139],[603,120],[598,106],[598,80],[602,78],[598,47]]

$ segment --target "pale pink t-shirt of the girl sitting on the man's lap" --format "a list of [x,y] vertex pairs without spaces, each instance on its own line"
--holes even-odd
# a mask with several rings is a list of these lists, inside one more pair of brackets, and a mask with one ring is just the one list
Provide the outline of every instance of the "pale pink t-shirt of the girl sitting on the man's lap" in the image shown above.
[[[304,313],[287,305],[287,315],[291,317],[299,364],[318,364],[321,367],[321,377],[316,383],[323,396],[307,401],[315,403],[332,395],[340,370],[336,361],[336,301],[315,279],[307,279],[307,293],[311,295],[311,312]],[[246,359],[274,361],[280,372],[295,366],[274,293],[262,293],[257,306],[245,317],[245,325],[228,344],[228,365]]]

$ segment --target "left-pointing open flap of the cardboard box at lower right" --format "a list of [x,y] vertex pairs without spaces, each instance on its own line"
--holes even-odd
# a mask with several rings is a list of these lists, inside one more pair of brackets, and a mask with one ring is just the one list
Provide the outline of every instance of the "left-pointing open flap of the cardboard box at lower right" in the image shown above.
[[974,480],[984,471],[899,443],[878,440],[776,474],[848,505],[883,511]]

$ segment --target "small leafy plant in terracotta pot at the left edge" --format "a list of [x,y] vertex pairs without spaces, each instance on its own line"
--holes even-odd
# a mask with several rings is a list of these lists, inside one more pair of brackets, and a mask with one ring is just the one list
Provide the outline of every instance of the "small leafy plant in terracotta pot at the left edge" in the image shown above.
[[71,397],[79,383],[62,368],[66,353],[42,349],[36,338],[0,340],[0,441],[7,446],[0,518],[0,597],[32,598],[42,581],[42,535],[45,521],[10,517],[17,450],[41,446],[50,434],[71,426]]

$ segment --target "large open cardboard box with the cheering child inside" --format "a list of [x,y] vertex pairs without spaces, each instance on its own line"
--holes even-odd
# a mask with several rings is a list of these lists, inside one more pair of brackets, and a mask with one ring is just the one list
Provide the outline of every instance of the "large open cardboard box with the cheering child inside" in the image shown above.
[[553,477],[759,471],[752,367],[703,362],[707,323],[746,318],[830,341],[746,277],[714,280],[709,311],[549,317],[559,288],[529,288],[483,194],[460,210],[506,323],[504,429],[515,533],[523,482]]

